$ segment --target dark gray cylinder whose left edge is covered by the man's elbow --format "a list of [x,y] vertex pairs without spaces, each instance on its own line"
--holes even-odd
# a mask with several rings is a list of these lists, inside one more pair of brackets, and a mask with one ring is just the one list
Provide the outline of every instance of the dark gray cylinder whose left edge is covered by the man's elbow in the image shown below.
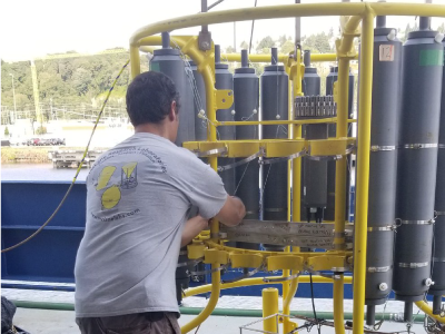
[[[258,120],[259,79],[254,68],[248,67],[247,50],[241,50],[241,67],[234,75],[235,120]],[[257,125],[237,126],[237,140],[258,139]],[[238,158],[237,160],[240,160]],[[259,166],[258,158],[236,167],[235,193],[246,206],[245,219],[259,219]],[[246,244],[246,243],[243,243]],[[253,244],[251,244],[253,245]]]

